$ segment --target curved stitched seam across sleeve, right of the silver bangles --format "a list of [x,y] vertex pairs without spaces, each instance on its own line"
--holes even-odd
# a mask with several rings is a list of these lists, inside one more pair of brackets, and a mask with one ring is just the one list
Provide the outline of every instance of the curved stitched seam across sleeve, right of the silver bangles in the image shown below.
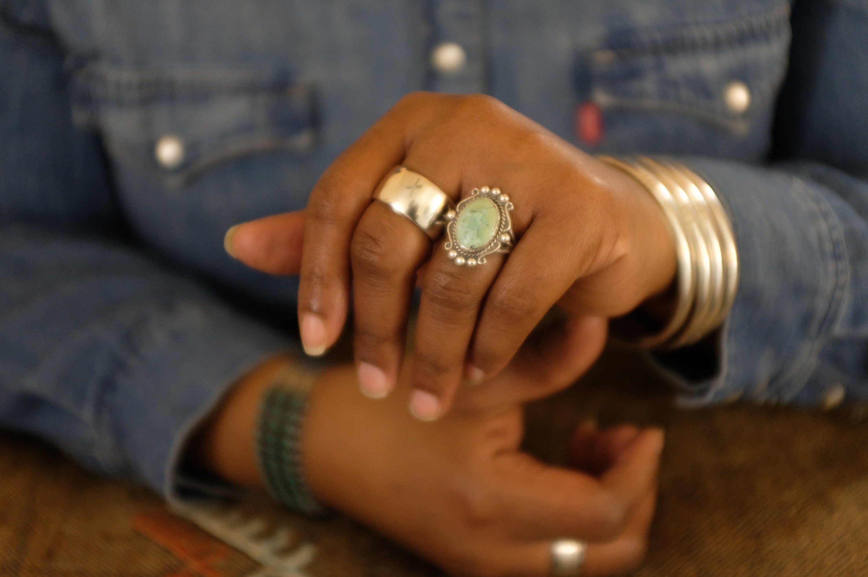
[[[807,186],[804,180],[792,177],[797,185],[792,187],[793,192],[800,189],[800,196],[810,200],[816,218],[812,218],[817,227],[821,247],[825,252],[825,264],[829,282],[825,285],[825,293],[822,300],[825,301],[825,310],[819,311],[815,318],[812,335],[803,346],[802,351],[794,359],[789,371],[775,379],[774,390],[785,400],[796,397],[810,381],[819,362],[819,353],[825,345],[825,340],[840,314],[840,305],[845,294],[847,279],[850,276],[846,266],[844,252],[844,234],[840,229],[840,223],[835,217],[832,207],[825,198],[812,187]],[[799,359],[800,362],[799,362]],[[798,377],[797,377],[798,376]]]

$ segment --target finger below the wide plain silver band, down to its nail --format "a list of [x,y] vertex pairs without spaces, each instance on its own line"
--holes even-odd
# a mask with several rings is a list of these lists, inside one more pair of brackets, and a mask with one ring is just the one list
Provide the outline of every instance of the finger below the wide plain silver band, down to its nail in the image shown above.
[[398,380],[416,271],[431,240],[382,202],[365,211],[353,234],[353,334],[358,382],[372,398]]

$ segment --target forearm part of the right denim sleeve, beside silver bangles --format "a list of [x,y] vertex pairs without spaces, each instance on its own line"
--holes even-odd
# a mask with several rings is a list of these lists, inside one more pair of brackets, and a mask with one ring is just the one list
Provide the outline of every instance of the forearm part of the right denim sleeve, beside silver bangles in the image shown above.
[[713,363],[656,355],[688,405],[868,400],[868,183],[807,162],[688,159],[733,222],[739,292]]

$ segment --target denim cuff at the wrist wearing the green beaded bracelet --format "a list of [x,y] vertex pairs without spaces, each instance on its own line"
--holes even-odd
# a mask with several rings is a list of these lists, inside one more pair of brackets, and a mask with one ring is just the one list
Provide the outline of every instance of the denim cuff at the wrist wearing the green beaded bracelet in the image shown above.
[[118,378],[111,402],[118,444],[133,476],[170,502],[198,492],[225,495],[220,482],[183,470],[190,437],[241,377],[268,357],[297,350],[276,331],[198,302],[172,316],[136,358],[135,371]]

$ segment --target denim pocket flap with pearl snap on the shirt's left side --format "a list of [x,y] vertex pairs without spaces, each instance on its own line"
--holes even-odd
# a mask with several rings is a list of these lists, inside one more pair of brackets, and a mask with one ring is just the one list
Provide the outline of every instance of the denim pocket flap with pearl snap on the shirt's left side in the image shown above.
[[250,154],[299,153],[315,141],[312,85],[248,69],[86,66],[72,73],[73,119],[112,160],[182,187]]

